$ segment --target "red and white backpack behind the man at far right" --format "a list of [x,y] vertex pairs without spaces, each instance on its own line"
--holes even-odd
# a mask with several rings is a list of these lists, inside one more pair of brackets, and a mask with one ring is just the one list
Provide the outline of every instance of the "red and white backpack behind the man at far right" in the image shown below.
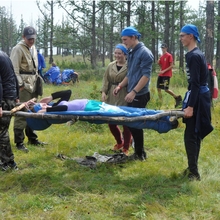
[[211,66],[210,63],[208,65],[209,75],[208,75],[208,87],[210,90],[211,99],[218,98],[218,79],[217,74],[214,68]]

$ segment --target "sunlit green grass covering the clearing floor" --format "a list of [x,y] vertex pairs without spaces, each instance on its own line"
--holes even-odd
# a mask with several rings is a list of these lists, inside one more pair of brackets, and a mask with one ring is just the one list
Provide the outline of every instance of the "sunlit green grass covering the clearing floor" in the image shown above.
[[[162,106],[158,105],[155,82],[156,74],[148,107],[173,109],[174,100],[165,93]],[[184,86],[184,77],[174,75],[170,88],[183,95]],[[44,91],[46,96],[61,89],[72,89],[72,98],[98,99],[100,87],[101,80],[90,79],[69,86],[45,85]],[[107,124],[52,125],[37,132],[39,140],[48,145],[28,146],[29,153],[24,153],[13,144],[12,119],[10,135],[19,170],[1,173],[0,219],[220,219],[218,100],[214,103],[212,120],[215,130],[204,139],[199,159],[202,180],[189,182],[179,175],[187,166],[183,144],[185,126],[181,120],[177,129],[166,134],[145,129],[148,154],[145,162],[103,163],[89,169],[74,160],[61,160],[57,155],[83,158],[94,152],[112,153],[110,149],[115,141]]]

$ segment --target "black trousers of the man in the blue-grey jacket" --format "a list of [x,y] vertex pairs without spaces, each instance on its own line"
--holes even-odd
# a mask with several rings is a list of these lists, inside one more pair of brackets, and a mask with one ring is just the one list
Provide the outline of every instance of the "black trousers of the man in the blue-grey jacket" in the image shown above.
[[[129,107],[135,107],[135,108],[146,108],[147,103],[150,100],[150,92],[136,96],[133,100],[133,102],[128,103]],[[143,129],[137,129],[129,127],[129,130],[133,136],[134,139],[134,148],[135,153],[138,156],[145,156],[146,153],[144,151],[144,131]]]

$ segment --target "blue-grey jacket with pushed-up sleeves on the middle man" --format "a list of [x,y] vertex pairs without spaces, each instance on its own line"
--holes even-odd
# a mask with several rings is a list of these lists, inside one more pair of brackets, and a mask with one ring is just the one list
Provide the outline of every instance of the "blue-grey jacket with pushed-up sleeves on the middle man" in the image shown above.
[[134,89],[142,76],[149,78],[147,84],[138,92],[137,96],[149,92],[149,83],[152,71],[154,56],[151,51],[142,43],[138,43],[128,53],[128,93]]

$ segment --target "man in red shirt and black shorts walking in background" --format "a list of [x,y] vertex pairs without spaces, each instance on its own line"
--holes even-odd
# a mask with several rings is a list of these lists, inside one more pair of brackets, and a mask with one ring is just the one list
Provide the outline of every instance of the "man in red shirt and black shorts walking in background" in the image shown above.
[[160,71],[157,78],[158,95],[159,98],[162,99],[161,89],[163,89],[166,93],[173,96],[176,101],[175,108],[177,108],[182,102],[182,97],[174,94],[174,92],[169,89],[170,78],[172,77],[173,57],[167,52],[167,44],[163,43],[161,49],[163,54],[157,61],[160,65]]

